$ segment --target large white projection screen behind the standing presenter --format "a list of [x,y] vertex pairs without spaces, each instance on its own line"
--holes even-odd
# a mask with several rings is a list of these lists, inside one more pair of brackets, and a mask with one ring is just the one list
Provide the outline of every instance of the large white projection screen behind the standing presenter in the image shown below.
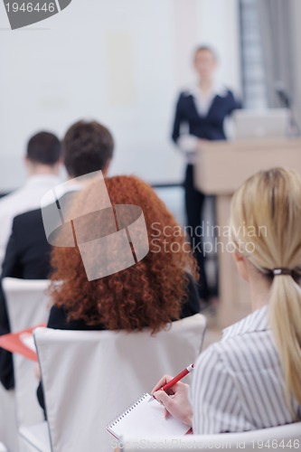
[[0,192],[24,183],[28,137],[63,137],[80,118],[112,130],[111,175],[180,183],[184,159],[170,135],[195,46],[212,45],[218,78],[240,90],[238,0],[72,0],[14,31],[1,3],[0,42]]

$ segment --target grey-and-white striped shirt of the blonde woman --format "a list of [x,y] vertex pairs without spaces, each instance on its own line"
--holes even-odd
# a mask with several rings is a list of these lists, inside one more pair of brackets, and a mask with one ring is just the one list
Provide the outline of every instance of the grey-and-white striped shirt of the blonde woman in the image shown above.
[[[214,434],[293,422],[268,322],[268,306],[223,331],[198,358],[190,400],[193,433]],[[293,401],[297,416],[301,407]]]

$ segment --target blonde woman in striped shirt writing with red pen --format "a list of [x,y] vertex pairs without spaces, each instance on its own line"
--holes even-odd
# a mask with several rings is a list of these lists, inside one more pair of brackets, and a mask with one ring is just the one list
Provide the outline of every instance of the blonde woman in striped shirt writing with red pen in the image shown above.
[[300,175],[275,168],[250,177],[233,196],[230,225],[252,314],[201,354],[190,393],[183,382],[169,394],[157,391],[169,376],[153,390],[195,434],[301,419]]

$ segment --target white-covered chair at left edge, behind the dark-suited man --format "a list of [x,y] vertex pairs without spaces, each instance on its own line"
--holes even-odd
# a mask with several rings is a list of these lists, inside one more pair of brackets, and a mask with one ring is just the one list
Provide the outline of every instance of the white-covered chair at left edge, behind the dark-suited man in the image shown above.
[[[47,322],[49,280],[4,278],[2,281],[12,333]],[[15,408],[17,425],[31,425],[43,419],[36,399],[38,381],[34,363],[14,353]]]

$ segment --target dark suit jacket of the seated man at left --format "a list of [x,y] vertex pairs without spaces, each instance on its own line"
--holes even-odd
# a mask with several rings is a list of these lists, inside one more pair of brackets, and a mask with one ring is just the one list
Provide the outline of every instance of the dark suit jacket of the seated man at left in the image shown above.
[[[14,218],[1,279],[47,279],[50,272],[51,246],[46,240],[41,209]],[[0,281],[0,335],[10,333],[5,296]],[[14,388],[12,353],[0,348],[0,381],[6,390]]]

